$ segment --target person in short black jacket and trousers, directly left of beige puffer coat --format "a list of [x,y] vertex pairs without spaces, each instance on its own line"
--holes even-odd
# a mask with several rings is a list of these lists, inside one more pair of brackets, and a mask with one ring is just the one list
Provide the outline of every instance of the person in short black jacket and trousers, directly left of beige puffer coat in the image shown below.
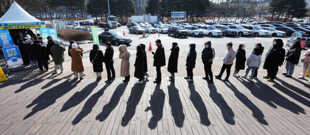
[[[106,42],[106,47],[107,47],[107,49],[106,49],[103,61],[106,64],[108,80],[105,81],[105,82],[111,82],[112,79],[113,80],[115,79],[115,70],[114,70],[114,67],[113,67],[113,63],[114,63],[114,60],[113,60],[114,50],[111,47],[111,43],[110,42]],[[112,72],[112,77],[111,77],[111,72]]]

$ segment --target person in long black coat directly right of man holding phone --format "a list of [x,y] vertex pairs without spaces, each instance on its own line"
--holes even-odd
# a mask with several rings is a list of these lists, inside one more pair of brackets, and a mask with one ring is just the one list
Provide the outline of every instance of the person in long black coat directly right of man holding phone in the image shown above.
[[173,42],[172,43],[172,48],[171,54],[169,56],[169,61],[168,61],[168,72],[171,73],[171,77],[169,81],[174,81],[174,73],[178,72],[178,58],[179,58],[179,51],[180,48],[178,46],[178,43]]

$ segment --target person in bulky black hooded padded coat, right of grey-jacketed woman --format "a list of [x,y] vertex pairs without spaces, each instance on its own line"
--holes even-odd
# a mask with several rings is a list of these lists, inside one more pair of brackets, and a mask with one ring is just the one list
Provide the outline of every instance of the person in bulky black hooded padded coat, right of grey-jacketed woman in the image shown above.
[[270,47],[266,54],[265,62],[263,65],[264,69],[267,69],[267,76],[263,78],[268,79],[267,81],[274,81],[275,76],[279,70],[279,65],[281,64],[281,59],[283,55],[283,41],[281,39],[274,39],[273,46]]

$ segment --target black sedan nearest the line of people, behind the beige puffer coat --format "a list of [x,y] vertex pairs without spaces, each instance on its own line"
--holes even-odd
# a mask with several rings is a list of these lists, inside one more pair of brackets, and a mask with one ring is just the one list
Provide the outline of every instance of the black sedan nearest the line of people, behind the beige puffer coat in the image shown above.
[[129,44],[132,42],[130,37],[124,36],[119,31],[106,31],[98,35],[99,42],[106,43],[111,42],[114,45],[119,46],[120,44]]

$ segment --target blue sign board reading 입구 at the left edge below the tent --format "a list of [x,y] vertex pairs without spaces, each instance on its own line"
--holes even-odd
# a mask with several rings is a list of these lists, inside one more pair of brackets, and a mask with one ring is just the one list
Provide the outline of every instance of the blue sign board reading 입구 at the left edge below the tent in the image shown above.
[[23,63],[18,46],[2,48],[2,50],[8,66],[14,66]]

